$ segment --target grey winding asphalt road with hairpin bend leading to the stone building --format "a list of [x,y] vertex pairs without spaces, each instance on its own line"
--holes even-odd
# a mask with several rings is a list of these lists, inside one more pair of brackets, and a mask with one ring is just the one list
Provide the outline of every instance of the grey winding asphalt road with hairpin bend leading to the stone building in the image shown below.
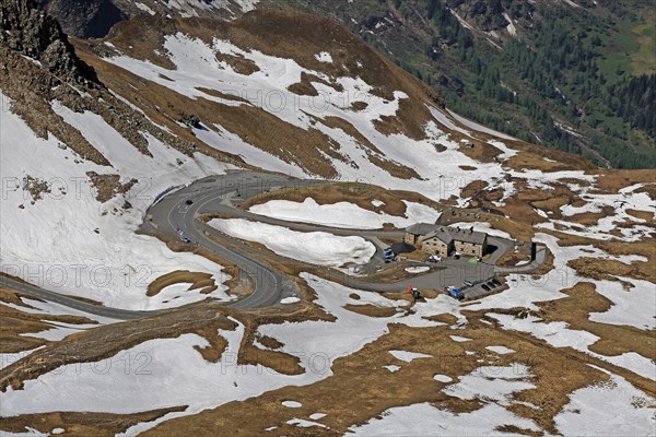
[[[241,279],[248,280],[253,286],[253,293],[242,299],[229,304],[235,308],[254,308],[274,306],[281,299],[296,295],[296,286],[292,279],[279,272],[261,258],[277,258],[283,261],[294,261],[288,258],[271,255],[253,248],[244,243],[227,237],[198,220],[204,214],[222,214],[230,217],[259,221],[272,225],[284,226],[295,231],[316,232],[323,231],[336,235],[359,235],[373,241],[379,241],[379,237],[400,237],[402,231],[358,231],[344,229],[314,224],[303,224],[266,217],[234,206],[233,201],[248,199],[270,190],[279,188],[300,188],[311,185],[325,184],[321,180],[301,180],[281,175],[255,173],[249,170],[234,170],[226,175],[212,176],[195,181],[194,184],[164,196],[153,204],[147,214],[140,232],[150,235],[165,235],[171,238],[189,238],[195,244],[210,250],[225,261],[241,269]],[[188,204],[188,201],[191,204]],[[302,200],[302,199],[298,199]],[[344,199],[348,200],[348,199]],[[208,236],[210,235],[211,238]],[[497,246],[497,250],[487,262],[476,264],[467,262],[467,259],[448,259],[433,264],[421,264],[431,267],[431,272],[415,277],[405,279],[396,283],[375,283],[340,274],[326,269],[327,277],[345,286],[368,290],[374,292],[402,291],[408,284],[419,288],[438,290],[448,284],[461,284],[465,280],[480,282],[492,277],[495,272],[494,262],[512,247],[512,241],[490,237],[490,243]],[[237,250],[235,250],[237,248]],[[255,255],[258,256],[255,256]],[[376,257],[382,258],[378,247]],[[541,262],[540,262],[541,264]],[[311,265],[311,264],[307,264]],[[526,270],[535,269],[527,265]],[[0,283],[9,288],[14,288],[24,294],[55,302],[80,311],[104,316],[108,318],[129,320],[164,312],[166,310],[134,311],[119,308],[109,308],[85,303],[73,297],[65,296],[37,287],[36,285],[1,277]],[[190,304],[190,305],[200,305]]]

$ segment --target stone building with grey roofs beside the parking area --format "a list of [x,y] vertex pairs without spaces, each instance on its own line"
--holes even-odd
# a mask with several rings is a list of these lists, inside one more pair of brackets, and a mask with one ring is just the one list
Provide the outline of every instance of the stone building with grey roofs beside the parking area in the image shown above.
[[448,257],[456,251],[482,258],[488,248],[488,234],[471,228],[417,223],[406,229],[405,241],[430,255]]

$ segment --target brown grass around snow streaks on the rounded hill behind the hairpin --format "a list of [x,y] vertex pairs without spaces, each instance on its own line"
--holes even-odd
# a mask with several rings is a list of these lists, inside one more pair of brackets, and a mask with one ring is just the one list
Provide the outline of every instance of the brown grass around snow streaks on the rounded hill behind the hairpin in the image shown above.
[[[397,116],[376,122],[377,129],[386,134],[405,133],[413,139],[424,138],[424,125],[431,119],[426,104],[441,105],[433,90],[388,61],[359,36],[329,20],[312,15],[265,10],[250,12],[233,22],[143,15],[117,25],[106,42],[127,56],[173,69],[173,63],[163,54],[162,45],[166,35],[178,32],[207,43],[213,38],[230,39],[245,50],[293,58],[304,68],[327,74],[331,79],[326,83],[336,90],[339,90],[339,85],[332,83],[336,78],[360,76],[373,86],[374,94],[384,98],[391,99],[395,91],[402,91],[410,98],[401,101],[401,110]],[[116,54],[114,48],[104,44],[105,40],[74,43],[81,57],[93,66],[109,88],[139,106],[153,121],[167,126],[175,134],[194,142],[206,152],[206,144],[176,121],[195,115],[207,126],[221,126],[242,140],[323,177],[336,176],[326,155],[347,161],[339,153],[338,144],[318,129],[300,129],[249,104],[233,107],[204,98],[188,98],[104,61],[102,57]],[[315,55],[320,51],[329,51],[335,62],[318,61]],[[251,73],[256,68],[237,57],[225,59],[220,55],[220,58],[236,66],[244,74]],[[292,86],[291,92],[312,95],[315,90],[306,76],[297,86]],[[207,94],[216,96],[211,91]],[[317,119],[315,122],[351,134],[367,151],[370,158],[390,174],[402,178],[419,177],[412,169],[386,160],[347,120]]]

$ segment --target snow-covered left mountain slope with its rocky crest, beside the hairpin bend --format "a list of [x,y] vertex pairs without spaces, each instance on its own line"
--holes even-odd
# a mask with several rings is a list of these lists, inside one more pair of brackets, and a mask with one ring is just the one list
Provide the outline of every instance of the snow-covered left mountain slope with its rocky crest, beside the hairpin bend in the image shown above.
[[113,95],[33,3],[0,12],[2,272],[108,306],[156,308],[185,299],[150,298],[149,283],[186,264],[215,275],[214,295],[227,298],[221,267],[136,231],[162,191],[229,165]]

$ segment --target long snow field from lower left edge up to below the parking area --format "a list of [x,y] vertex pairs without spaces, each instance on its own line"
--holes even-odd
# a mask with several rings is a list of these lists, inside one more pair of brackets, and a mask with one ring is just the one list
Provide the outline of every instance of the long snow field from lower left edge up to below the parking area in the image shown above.
[[196,345],[208,345],[208,341],[197,334],[150,340],[108,359],[59,367],[25,381],[23,390],[9,389],[0,393],[2,414],[49,411],[134,413],[143,411],[144,405],[148,410],[189,405],[185,412],[137,425],[127,433],[136,435],[165,418],[195,414],[280,387],[308,385],[327,378],[332,375],[333,359],[350,355],[384,335],[391,322],[417,327],[442,324],[414,315],[372,318],[349,311],[344,305],[363,305],[350,297],[352,294],[376,305],[394,307],[405,302],[350,290],[308,274],[302,274],[302,277],[315,290],[317,305],[335,315],[337,320],[269,324],[260,327],[258,332],[280,340],[284,343],[284,352],[298,356],[307,370],[303,375],[285,376],[261,365],[237,365],[244,335],[244,326],[238,323],[235,331],[219,331],[229,341],[219,363],[207,362],[194,350]]

